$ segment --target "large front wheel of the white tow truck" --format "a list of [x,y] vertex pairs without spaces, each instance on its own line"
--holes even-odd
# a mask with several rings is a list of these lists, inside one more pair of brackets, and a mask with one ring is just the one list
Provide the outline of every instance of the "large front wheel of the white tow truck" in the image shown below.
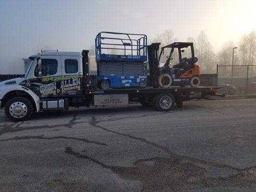
[[32,103],[24,97],[14,97],[5,104],[5,114],[13,121],[28,120],[33,113]]

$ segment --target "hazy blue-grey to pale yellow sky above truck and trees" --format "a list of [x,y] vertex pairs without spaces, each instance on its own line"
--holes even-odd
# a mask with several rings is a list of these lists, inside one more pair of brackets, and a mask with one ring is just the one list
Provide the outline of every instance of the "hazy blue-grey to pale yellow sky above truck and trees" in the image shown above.
[[[256,29],[256,0],[0,0],[0,74],[24,73],[39,49],[81,51],[100,31],[166,29],[178,40],[205,31],[215,51]],[[40,41],[39,41],[40,36]]]

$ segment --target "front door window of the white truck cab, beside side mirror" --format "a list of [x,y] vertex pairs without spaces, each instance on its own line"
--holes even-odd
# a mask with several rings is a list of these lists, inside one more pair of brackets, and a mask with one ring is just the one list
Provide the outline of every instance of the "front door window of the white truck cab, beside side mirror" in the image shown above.
[[[42,59],[42,76],[54,75],[58,70],[58,61],[53,59]],[[37,67],[35,69],[35,76],[37,77]]]

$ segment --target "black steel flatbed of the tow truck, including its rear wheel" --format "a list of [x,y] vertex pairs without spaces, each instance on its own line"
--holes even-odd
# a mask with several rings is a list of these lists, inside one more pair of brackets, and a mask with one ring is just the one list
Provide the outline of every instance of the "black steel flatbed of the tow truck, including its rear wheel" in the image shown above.
[[85,96],[90,98],[94,106],[122,105],[131,101],[139,101],[143,106],[152,106],[161,111],[171,110],[176,107],[183,108],[183,101],[190,99],[203,99],[208,96],[224,96],[217,94],[221,87],[198,86],[169,88],[115,88],[107,90],[87,90]]

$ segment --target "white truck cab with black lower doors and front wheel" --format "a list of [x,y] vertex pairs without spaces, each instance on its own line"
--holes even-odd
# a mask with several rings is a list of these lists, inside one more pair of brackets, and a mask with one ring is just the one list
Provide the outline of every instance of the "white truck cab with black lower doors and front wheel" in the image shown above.
[[33,111],[43,109],[44,98],[47,109],[63,108],[63,97],[82,96],[80,52],[42,52],[29,59],[24,78],[0,82],[0,108],[5,107],[10,119],[28,119]]

